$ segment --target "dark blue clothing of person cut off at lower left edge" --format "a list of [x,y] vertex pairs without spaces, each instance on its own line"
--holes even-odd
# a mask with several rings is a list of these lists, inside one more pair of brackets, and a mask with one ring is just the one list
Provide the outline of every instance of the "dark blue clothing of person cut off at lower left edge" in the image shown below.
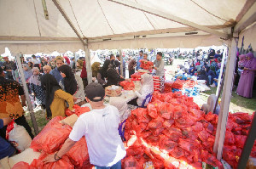
[[[0,119],[0,128],[3,128],[3,120]],[[5,139],[0,137],[0,159],[6,156],[11,156],[15,154],[15,148],[9,144]]]

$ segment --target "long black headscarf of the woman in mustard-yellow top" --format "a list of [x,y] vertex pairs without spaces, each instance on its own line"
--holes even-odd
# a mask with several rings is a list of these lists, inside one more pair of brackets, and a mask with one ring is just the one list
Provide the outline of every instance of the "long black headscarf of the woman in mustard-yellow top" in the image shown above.
[[45,96],[46,96],[45,109],[46,109],[47,118],[51,118],[52,113],[49,106],[54,99],[55,91],[61,89],[61,87],[59,83],[56,81],[55,77],[49,74],[45,74],[44,76],[41,77],[41,84],[42,84],[42,87],[44,88]]

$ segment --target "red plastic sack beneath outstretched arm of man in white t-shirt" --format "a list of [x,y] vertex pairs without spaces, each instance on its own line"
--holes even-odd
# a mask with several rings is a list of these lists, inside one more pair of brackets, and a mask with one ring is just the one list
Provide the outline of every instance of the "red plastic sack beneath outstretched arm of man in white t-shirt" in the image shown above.
[[85,138],[80,138],[80,140],[73,145],[72,149],[70,149],[66,155],[72,161],[74,166],[83,166],[84,161],[89,162],[89,154]]

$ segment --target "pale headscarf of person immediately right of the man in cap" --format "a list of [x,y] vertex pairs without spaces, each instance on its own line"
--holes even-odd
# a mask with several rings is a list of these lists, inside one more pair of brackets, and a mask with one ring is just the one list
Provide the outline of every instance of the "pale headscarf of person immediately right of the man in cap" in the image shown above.
[[128,109],[128,104],[126,104],[125,100],[110,98],[109,104],[119,110],[120,121],[127,119],[131,115],[131,110]]

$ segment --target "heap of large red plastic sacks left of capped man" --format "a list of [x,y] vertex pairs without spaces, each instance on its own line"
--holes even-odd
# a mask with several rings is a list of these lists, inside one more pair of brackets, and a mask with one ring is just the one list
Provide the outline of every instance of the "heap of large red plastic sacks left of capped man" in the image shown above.
[[[76,111],[82,111],[84,108],[75,106]],[[87,144],[85,138],[81,138],[73,148],[64,155],[60,161],[44,164],[43,160],[47,155],[54,154],[60,150],[64,142],[72,131],[72,127],[62,125],[59,121],[64,117],[56,116],[44,127],[44,129],[32,140],[31,148],[34,151],[41,152],[38,159],[32,161],[29,168],[91,168]],[[24,162],[17,163],[15,168],[26,166]]]

